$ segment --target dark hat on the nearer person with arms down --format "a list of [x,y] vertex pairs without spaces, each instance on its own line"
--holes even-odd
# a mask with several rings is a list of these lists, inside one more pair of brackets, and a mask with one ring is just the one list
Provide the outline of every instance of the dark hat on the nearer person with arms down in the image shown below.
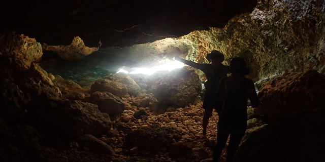
[[235,57],[230,61],[229,72],[242,75],[249,74],[249,68],[246,67],[246,62],[241,57]]

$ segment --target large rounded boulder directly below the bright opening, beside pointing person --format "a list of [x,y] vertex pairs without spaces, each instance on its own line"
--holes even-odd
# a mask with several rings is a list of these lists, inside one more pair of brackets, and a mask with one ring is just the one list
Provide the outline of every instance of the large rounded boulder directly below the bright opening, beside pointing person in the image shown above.
[[154,97],[161,104],[185,106],[194,103],[201,91],[198,74],[192,67],[175,69],[152,86]]

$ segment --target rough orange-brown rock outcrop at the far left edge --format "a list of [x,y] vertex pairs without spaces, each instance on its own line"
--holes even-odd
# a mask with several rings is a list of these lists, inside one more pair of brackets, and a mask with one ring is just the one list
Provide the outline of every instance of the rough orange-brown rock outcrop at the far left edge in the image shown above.
[[5,34],[0,37],[0,56],[10,58],[10,67],[16,71],[27,70],[31,62],[41,60],[42,46],[34,38],[23,34]]

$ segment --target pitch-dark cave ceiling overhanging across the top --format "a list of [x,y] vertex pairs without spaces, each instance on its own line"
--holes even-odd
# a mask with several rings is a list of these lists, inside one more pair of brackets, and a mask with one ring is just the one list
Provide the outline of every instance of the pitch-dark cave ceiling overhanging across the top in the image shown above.
[[257,0],[220,1],[7,1],[0,7],[0,33],[15,32],[48,45],[129,47],[194,30],[222,28],[235,15],[252,12]]

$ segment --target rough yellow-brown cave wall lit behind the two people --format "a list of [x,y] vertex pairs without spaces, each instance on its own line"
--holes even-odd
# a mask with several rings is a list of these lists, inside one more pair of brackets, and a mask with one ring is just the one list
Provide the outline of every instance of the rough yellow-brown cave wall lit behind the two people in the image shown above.
[[170,41],[113,53],[135,57],[146,65],[150,58],[171,59],[175,55],[206,63],[206,54],[219,50],[225,54],[224,64],[244,57],[251,69],[248,77],[255,81],[282,72],[316,69],[324,73],[324,13],[324,1],[258,1],[252,13],[234,17],[224,28],[196,30]]

